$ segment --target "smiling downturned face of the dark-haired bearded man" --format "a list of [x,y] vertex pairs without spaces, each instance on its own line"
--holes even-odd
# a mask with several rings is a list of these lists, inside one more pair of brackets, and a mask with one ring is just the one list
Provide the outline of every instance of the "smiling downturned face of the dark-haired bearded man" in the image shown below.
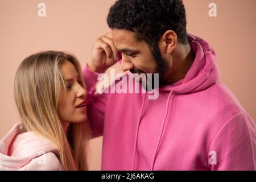
[[136,40],[135,33],[127,30],[113,29],[112,38],[115,48],[122,52],[122,71],[138,74],[159,73],[159,82],[163,81],[166,73],[163,76],[162,69],[156,64],[157,61],[146,42]]

